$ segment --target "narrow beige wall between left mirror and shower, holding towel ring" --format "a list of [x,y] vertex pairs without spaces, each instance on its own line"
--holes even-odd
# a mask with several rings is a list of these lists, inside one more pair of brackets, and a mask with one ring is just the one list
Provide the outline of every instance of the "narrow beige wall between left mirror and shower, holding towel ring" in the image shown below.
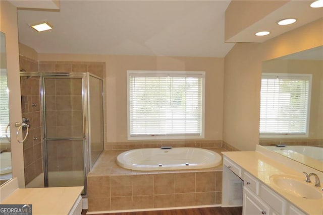
[[13,176],[18,177],[19,187],[25,187],[23,145],[15,138],[14,126],[15,122],[21,122],[17,9],[7,1],[0,1],[0,8],[0,30],[6,34]]

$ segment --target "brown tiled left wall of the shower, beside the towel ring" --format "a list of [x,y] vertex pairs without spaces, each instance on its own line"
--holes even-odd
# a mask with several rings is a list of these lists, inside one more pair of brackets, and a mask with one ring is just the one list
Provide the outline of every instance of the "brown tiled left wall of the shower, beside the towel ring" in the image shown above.
[[[20,68],[38,71],[37,61],[20,56]],[[21,77],[22,116],[30,120],[30,128],[24,148],[25,184],[42,173],[41,113],[38,77]],[[23,130],[25,137],[26,130]]]

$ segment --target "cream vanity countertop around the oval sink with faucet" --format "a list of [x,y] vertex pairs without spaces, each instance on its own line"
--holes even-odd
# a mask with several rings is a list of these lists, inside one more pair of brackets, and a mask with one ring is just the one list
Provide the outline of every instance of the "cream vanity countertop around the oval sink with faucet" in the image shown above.
[[[282,163],[279,163],[265,155],[253,152],[222,152],[227,158],[237,163],[241,168],[252,174],[258,180],[266,184],[268,187],[276,191],[286,200],[301,208],[308,214],[323,214],[323,200],[322,199],[306,199],[294,196],[275,186],[270,181],[270,176],[280,175],[293,175],[305,180],[302,172],[297,172]],[[310,185],[314,186],[313,183]],[[320,187],[321,188],[321,187]],[[320,188],[317,188],[318,190]]]

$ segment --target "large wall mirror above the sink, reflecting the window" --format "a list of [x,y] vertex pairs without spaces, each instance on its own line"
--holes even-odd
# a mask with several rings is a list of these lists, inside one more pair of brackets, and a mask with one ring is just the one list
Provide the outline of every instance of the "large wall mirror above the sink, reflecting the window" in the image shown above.
[[260,97],[259,144],[323,171],[323,46],[264,61]]

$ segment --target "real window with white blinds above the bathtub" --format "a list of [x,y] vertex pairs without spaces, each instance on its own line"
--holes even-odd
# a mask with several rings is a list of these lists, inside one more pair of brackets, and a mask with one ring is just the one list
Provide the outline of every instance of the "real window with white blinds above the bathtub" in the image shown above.
[[204,137],[204,72],[127,71],[128,139]]

